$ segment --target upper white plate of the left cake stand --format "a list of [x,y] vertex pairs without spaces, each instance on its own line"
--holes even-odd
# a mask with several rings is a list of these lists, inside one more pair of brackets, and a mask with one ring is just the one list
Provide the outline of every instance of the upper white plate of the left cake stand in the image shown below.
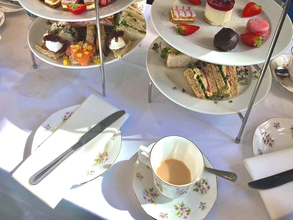
[[[122,11],[134,0],[111,0],[107,5],[99,5],[99,17],[104,18]],[[40,0],[20,0],[19,3],[29,12],[39,17],[57,20],[57,21],[89,21],[96,19],[95,10],[86,11],[79,15],[75,15],[68,11],[63,11],[62,6],[51,8]]]

